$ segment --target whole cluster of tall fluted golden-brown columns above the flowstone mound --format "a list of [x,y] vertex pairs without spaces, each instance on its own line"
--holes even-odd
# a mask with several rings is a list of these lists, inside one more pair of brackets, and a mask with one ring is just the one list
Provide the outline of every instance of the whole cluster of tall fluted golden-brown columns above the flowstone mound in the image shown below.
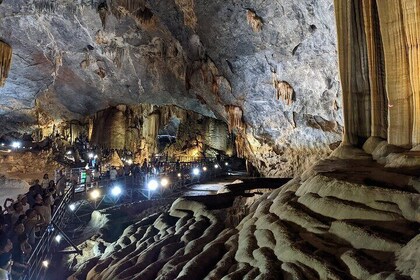
[[335,10],[344,141],[361,145],[379,136],[397,146],[418,145],[419,3],[336,0]]

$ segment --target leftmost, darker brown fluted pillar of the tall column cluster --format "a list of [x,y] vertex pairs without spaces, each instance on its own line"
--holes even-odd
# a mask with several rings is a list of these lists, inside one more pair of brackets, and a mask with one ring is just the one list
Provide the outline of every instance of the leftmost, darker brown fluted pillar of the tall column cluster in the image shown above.
[[371,134],[370,88],[362,4],[334,1],[339,68],[343,90],[343,142],[361,145]]

